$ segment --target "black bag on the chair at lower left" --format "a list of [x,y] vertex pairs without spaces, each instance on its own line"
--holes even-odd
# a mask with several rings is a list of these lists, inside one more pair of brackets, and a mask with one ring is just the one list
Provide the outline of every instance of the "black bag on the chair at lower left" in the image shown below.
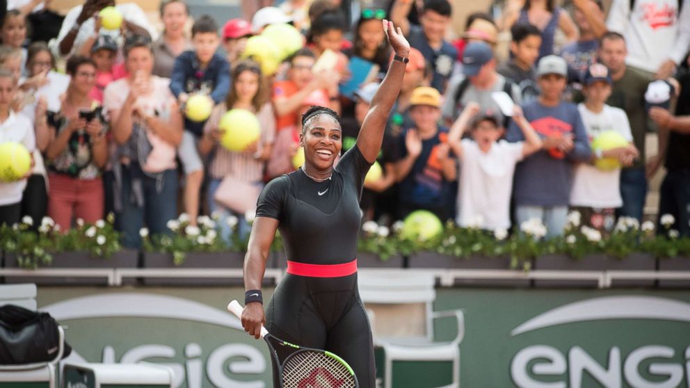
[[[0,365],[49,362],[60,347],[58,323],[46,312],[24,307],[0,307]],[[72,348],[65,342],[63,358]]]

